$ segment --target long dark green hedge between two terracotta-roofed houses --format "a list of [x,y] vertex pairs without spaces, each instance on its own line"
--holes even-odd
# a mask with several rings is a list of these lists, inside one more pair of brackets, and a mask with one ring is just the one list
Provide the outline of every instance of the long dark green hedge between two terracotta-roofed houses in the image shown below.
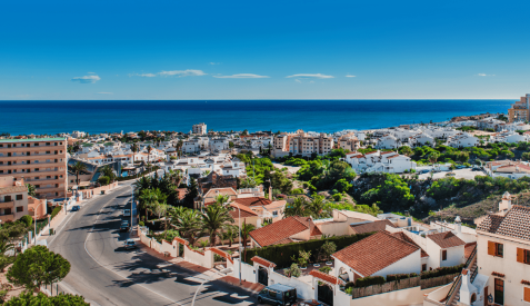
[[284,245],[273,245],[267,247],[256,247],[247,249],[246,263],[252,265],[250,260],[254,256],[260,256],[269,261],[272,261],[277,265],[277,268],[288,268],[292,264],[291,257],[294,255],[297,258],[300,250],[310,250],[311,257],[309,258],[310,263],[317,261],[317,256],[320,251],[320,247],[326,241],[332,241],[337,245],[337,251],[351,246],[352,244],[372,235],[374,233],[366,233],[350,236],[333,236],[324,239],[313,239],[301,243],[291,243]]

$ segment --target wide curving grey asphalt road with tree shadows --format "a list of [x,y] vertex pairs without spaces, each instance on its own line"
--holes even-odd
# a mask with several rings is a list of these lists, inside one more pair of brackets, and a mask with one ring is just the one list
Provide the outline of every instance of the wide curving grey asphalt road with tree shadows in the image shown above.
[[[71,213],[49,238],[49,248],[72,265],[61,283],[92,305],[191,305],[200,274],[167,265],[142,248],[124,250],[128,233],[119,233],[120,213],[130,208],[131,189],[120,187]],[[207,283],[196,305],[254,305],[248,292],[222,282]]]

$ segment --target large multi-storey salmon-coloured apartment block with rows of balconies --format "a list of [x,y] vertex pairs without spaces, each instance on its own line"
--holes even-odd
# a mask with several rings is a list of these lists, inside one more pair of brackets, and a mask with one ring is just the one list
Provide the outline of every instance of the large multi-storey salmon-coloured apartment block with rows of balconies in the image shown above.
[[0,178],[8,176],[33,185],[39,198],[64,197],[67,139],[0,139]]

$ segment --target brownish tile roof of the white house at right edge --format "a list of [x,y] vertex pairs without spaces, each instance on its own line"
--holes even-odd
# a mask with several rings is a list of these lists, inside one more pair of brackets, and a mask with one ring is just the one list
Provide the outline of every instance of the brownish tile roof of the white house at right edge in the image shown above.
[[489,215],[477,230],[530,240],[530,207],[513,205],[504,217]]

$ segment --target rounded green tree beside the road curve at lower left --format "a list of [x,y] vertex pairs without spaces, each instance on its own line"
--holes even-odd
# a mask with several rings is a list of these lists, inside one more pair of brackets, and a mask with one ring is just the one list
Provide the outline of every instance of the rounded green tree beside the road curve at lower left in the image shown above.
[[44,246],[33,246],[19,254],[7,277],[14,285],[33,290],[41,285],[62,280],[70,272],[70,263]]

